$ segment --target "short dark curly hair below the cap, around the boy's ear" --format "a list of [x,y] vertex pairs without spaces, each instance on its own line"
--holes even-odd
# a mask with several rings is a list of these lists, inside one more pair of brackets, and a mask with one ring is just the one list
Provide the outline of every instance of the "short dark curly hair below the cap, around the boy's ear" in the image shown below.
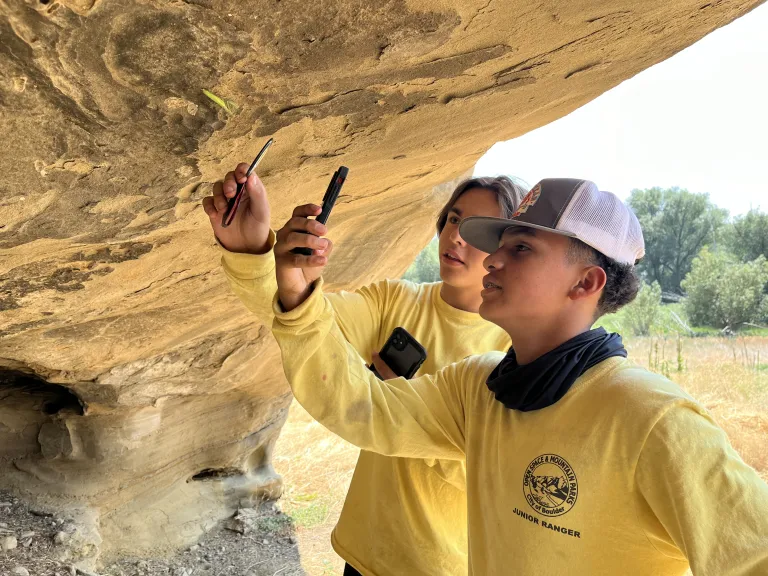
[[595,320],[626,306],[640,290],[640,278],[633,264],[622,264],[576,238],[570,239],[568,260],[599,266],[605,271],[605,288],[597,303]]

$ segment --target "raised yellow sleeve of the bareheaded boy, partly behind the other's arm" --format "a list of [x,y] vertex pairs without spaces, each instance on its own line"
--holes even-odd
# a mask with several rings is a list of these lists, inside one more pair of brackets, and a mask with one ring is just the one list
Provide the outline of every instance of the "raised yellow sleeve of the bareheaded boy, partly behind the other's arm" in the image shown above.
[[[232,291],[266,326],[272,325],[272,300],[277,292],[274,245],[272,230],[269,232],[269,251],[264,254],[230,252],[220,245],[221,266]],[[392,286],[385,281],[354,292],[327,295],[344,337],[368,362],[379,339],[381,319],[387,312],[385,307],[391,292]]]

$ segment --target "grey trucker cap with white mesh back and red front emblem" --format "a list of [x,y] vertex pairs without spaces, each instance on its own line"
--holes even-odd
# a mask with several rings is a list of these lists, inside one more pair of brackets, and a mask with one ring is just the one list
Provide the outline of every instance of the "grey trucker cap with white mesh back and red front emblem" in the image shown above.
[[517,226],[577,238],[622,264],[634,265],[645,255],[635,214],[589,180],[546,178],[531,188],[512,218],[473,216],[461,223],[459,234],[490,254],[498,250],[504,231]]

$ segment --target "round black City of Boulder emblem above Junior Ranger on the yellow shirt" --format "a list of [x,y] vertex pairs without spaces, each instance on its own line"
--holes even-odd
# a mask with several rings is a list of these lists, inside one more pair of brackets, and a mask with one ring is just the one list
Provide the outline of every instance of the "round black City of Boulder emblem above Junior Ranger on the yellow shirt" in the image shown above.
[[528,505],[542,516],[560,516],[576,504],[579,483],[565,458],[542,454],[525,470],[523,493]]

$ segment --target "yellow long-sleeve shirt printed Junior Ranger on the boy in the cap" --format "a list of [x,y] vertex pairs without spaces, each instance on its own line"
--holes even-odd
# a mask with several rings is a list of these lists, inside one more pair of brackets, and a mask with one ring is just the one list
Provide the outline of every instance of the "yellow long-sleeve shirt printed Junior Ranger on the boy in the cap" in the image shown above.
[[768,485],[673,382],[610,358],[531,412],[485,385],[499,353],[382,382],[321,286],[273,325],[295,397],[363,449],[466,457],[470,574],[768,574]]

